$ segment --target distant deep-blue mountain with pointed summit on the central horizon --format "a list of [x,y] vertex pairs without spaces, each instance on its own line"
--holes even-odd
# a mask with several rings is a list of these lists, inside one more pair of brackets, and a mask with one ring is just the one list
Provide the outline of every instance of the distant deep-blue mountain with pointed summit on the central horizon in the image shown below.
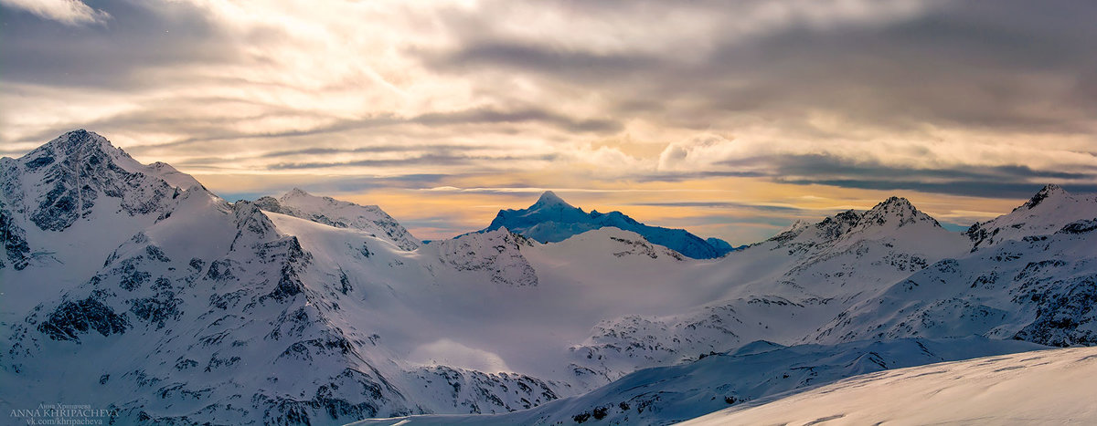
[[559,242],[593,229],[614,227],[636,232],[654,244],[693,258],[720,257],[734,250],[723,240],[705,241],[683,229],[649,227],[620,211],[585,212],[581,208],[567,204],[552,191],[541,194],[541,198],[529,208],[499,210],[491,224],[479,232],[504,227],[542,243]]

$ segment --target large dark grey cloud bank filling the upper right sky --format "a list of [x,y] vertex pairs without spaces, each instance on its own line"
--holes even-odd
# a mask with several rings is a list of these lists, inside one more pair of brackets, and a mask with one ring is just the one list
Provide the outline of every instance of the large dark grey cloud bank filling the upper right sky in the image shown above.
[[[812,110],[895,128],[930,123],[1090,133],[1097,127],[1097,25],[1092,24],[1097,3],[932,4],[920,15],[879,24],[790,24],[751,36],[717,31],[711,39],[698,41],[697,46],[716,47],[698,47],[702,59],[693,61],[671,54],[586,51],[551,39],[501,41],[463,21],[453,28],[464,45],[422,56],[440,71],[504,68],[601,91],[618,115],[698,129],[732,113],[810,127],[802,119]],[[711,8],[714,15],[737,10],[724,3],[689,7]],[[644,8],[669,14],[679,4]],[[614,13],[630,10],[635,8]],[[584,11],[615,16],[595,7]]]

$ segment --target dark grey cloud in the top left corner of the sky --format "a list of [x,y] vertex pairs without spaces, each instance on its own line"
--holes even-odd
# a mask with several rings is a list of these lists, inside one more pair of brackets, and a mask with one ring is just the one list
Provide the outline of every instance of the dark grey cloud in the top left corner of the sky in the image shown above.
[[228,62],[238,51],[197,9],[183,2],[106,0],[103,24],[63,25],[0,5],[0,65],[7,83],[129,90],[156,81],[156,67]]

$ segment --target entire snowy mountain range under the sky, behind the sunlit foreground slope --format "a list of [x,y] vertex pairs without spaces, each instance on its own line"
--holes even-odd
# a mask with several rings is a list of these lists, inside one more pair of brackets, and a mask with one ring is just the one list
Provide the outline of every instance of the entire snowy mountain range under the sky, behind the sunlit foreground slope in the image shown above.
[[[377,206],[301,189],[228,203],[84,130],[0,172],[11,410],[667,424],[1097,342],[1097,195],[1055,185],[964,232],[892,197],[726,252],[552,193],[422,243]],[[468,416],[485,413],[510,414]]]

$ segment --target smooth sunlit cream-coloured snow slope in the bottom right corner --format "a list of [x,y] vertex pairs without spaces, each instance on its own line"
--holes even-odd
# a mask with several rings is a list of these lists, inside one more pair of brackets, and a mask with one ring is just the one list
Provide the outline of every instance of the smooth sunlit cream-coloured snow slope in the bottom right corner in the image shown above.
[[1097,347],[1019,353],[857,376],[682,425],[1093,425],[1095,377]]

